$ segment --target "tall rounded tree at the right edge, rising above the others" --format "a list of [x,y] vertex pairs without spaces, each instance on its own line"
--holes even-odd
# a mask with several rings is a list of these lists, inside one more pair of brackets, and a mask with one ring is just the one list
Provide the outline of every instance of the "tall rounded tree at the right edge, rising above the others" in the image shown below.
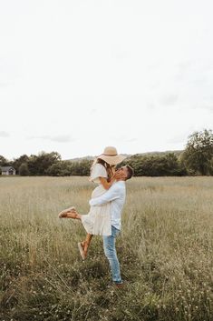
[[182,161],[194,174],[212,175],[213,133],[204,129],[189,135]]

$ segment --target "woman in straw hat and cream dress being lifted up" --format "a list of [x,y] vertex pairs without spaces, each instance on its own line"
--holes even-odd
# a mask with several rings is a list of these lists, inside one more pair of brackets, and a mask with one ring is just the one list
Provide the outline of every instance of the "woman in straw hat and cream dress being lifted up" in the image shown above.
[[[125,159],[123,155],[118,155],[115,147],[105,147],[103,154],[99,155],[92,164],[90,180],[98,183],[92,192],[92,198],[102,196],[120,175],[115,174],[115,166]],[[78,243],[78,247],[84,259],[87,256],[93,235],[111,236],[111,213],[110,203],[103,206],[91,206],[87,215],[79,215],[74,207],[62,211],[60,218],[75,218],[82,221],[82,225],[87,232],[84,241]]]

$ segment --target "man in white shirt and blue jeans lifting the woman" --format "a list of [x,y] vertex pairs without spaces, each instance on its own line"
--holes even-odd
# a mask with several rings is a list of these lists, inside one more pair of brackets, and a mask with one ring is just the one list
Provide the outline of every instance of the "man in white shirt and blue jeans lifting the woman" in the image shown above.
[[111,188],[102,196],[92,198],[91,206],[102,206],[111,202],[111,236],[102,236],[104,254],[108,258],[111,266],[112,281],[115,286],[121,286],[121,270],[120,263],[117,257],[115,238],[121,231],[121,210],[125,203],[126,186],[125,181],[133,175],[131,166],[122,166],[117,171],[121,178],[117,180]]

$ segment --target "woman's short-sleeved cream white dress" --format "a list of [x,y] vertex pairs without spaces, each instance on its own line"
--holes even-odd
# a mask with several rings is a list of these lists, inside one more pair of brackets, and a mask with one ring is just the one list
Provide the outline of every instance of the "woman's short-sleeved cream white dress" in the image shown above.
[[[107,178],[107,171],[101,164],[95,164],[92,168],[91,179],[99,186],[92,191],[92,198],[102,196],[106,192],[99,177]],[[82,216],[82,225],[86,232],[93,236],[111,236],[111,204],[91,206],[90,212]]]

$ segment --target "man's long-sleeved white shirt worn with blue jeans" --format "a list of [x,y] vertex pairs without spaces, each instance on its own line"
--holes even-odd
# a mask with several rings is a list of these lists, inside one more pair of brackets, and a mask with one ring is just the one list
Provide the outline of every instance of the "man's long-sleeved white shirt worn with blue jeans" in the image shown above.
[[102,196],[90,200],[90,206],[102,206],[111,202],[111,226],[121,230],[121,211],[126,198],[124,181],[115,182]]

